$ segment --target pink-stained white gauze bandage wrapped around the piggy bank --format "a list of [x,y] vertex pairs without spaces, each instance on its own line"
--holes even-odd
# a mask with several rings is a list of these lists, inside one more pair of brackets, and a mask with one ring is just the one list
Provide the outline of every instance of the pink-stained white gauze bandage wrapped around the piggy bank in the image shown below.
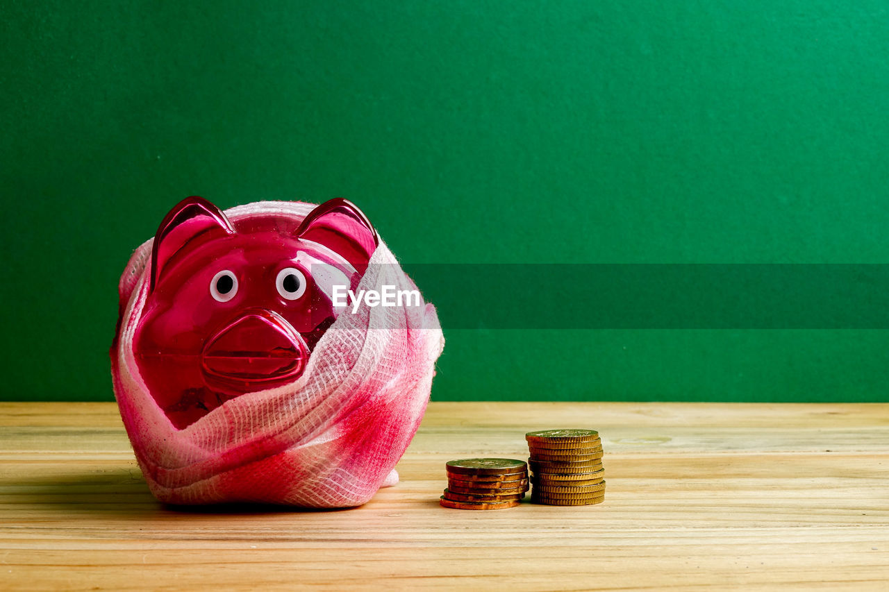
[[[275,213],[302,220],[312,204],[260,202],[229,220]],[[444,337],[431,304],[342,312],[305,372],[283,387],[237,396],[183,429],[148,393],[133,356],[148,295],[152,240],[124,270],[111,348],[115,396],[148,487],[160,501],[250,501],[313,508],[364,504],[396,484],[396,462],[420,424]],[[358,290],[416,290],[380,241]],[[358,292],[356,290],[356,293]]]

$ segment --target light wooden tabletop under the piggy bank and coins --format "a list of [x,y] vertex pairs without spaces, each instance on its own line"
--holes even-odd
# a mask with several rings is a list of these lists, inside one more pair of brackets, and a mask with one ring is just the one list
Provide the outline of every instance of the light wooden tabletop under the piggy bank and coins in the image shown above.
[[[445,461],[599,430],[605,503],[441,508]],[[434,403],[362,508],[156,503],[114,404],[0,404],[0,589],[889,589],[889,404]]]

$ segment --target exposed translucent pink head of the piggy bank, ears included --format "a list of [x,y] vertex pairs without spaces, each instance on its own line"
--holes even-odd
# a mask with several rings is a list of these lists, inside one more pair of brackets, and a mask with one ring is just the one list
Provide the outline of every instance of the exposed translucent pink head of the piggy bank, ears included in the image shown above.
[[256,214],[234,223],[188,197],[157,229],[150,290],[133,335],[148,392],[176,428],[228,399],[297,380],[379,239],[345,199],[300,223]]

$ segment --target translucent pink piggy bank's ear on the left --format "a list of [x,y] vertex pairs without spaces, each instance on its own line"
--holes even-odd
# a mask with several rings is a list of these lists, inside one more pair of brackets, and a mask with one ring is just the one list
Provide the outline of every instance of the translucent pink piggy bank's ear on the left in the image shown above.
[[218,207],[203,197],[183,199],[157,228],[151,248],[151,289],[155,289],[157,281],[164,276],[164,268],[177,252],[209,238],[233,234],[235,229]]

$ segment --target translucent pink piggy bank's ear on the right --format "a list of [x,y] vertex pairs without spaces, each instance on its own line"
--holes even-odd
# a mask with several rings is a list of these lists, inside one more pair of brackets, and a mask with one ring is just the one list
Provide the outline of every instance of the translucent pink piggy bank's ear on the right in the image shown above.
[[356,204],[336,197],[319,205],[302,220],[296,235],[323,244],[340,254],[360,273],[380,244],[377,231]]

